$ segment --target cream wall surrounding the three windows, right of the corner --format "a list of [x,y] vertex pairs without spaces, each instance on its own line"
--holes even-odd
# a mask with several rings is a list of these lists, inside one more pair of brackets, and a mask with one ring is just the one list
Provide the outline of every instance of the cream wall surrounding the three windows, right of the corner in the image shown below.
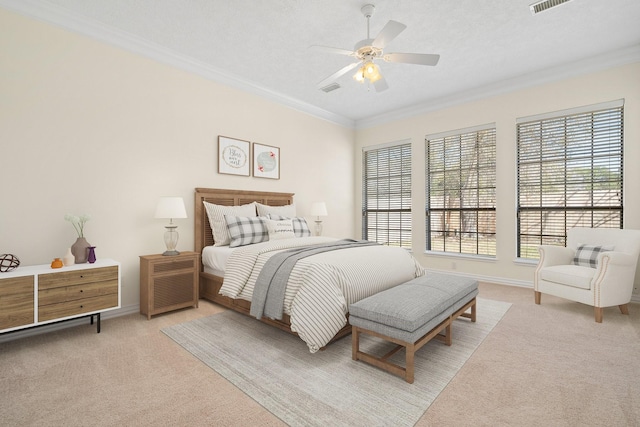
[[[356,206],[362,203],[362,147],[410,139],[413,152],[413,252],[428,268],[484,276],[490,280],[531,285],[533,264],[516,260],[516,134],[515,122],[545,112],[625,99],[625,228],[640,229],[640,63],[523,89],[476,102],[425,113],[356,135]],[[477,260],[425,253],[425,136],[485,123],[496,124],[497,138],[497,257]],[[361,217],[356,216],[356,230]],[[636,282],[640,281],[640,274]],[[638,285],[636,285],[638,295]]]

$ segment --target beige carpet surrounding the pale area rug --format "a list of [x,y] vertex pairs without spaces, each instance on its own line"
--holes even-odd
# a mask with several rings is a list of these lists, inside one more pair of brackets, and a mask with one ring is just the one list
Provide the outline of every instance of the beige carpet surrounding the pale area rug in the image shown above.
[[[640,304],[595,323],[592,307],[536,305],[527,288],[481,283],[480,297],[512,305],[416,427],[640,425]],[[87,321],[0,336],[0,425],[285,426],[161,332],[223,311],[201,300],[103,318],[100,334]]]

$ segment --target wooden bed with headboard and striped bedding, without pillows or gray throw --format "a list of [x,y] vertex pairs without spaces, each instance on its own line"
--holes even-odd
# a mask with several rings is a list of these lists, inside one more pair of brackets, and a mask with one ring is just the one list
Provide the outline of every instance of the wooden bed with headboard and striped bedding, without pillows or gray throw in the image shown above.
[[[293,204],[293,194],[210,188],[195,190],[195,250],[201,253],[203,259],[200,297],[246,315],[251,313],[256,277],[273,254],[282,252],[285,248],[332,244],[338,240],[305,236],[270,240],[233,249],[226,246],[214,247],[214,232],[203,202],[235,207],[257,202],[286,209]],[[353,261],[349,255],[352,251],[358,251],[358,254],[353,253],[353,256],[358,257]],[[212,252],[222,260],[220,263],[209,262]],[[388,265],[384,265],[385,262]],[[366,280],[361,279],[365,272]],[[281,319],[263,316],[260,320],[297,334],[306,342],[309,350],[315,352],[351,332],[347,321],[349,303],[422,274],[424,270],[417,261],[408,251],[400,248],[374,245],[313,255],[295,264],[287,285],[284,303],[286,310]],[[356,283],[358,281],[360,283]],[[362,283],[363,281],[366,283]],[[328,290],[323,290],[322,295],[318,296],[319,288]],[[330,301],[318,303],[318,298],[326,298],[325,294],[329,295]],[[312,315],[310,312],[313,312]]]

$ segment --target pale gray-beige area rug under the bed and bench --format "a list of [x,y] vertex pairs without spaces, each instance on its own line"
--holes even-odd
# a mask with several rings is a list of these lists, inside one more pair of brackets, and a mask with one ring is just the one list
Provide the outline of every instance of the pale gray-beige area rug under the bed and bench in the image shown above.
[[[350,336],[311,354],[298,337],[232,311],[162,332],[291,426],[413,426],[510,306],[478,298],[477,322],[455,320],[451,347],[432,340],[416,353],[413,384],[353,361]],[[391,348],[367,336],[361,346]]]

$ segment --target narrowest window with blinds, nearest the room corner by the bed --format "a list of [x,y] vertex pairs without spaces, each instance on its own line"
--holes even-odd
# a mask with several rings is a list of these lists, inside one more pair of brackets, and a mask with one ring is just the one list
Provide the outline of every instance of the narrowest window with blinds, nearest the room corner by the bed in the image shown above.
[[411,248],[411,143],[365,148],[362,237]]

